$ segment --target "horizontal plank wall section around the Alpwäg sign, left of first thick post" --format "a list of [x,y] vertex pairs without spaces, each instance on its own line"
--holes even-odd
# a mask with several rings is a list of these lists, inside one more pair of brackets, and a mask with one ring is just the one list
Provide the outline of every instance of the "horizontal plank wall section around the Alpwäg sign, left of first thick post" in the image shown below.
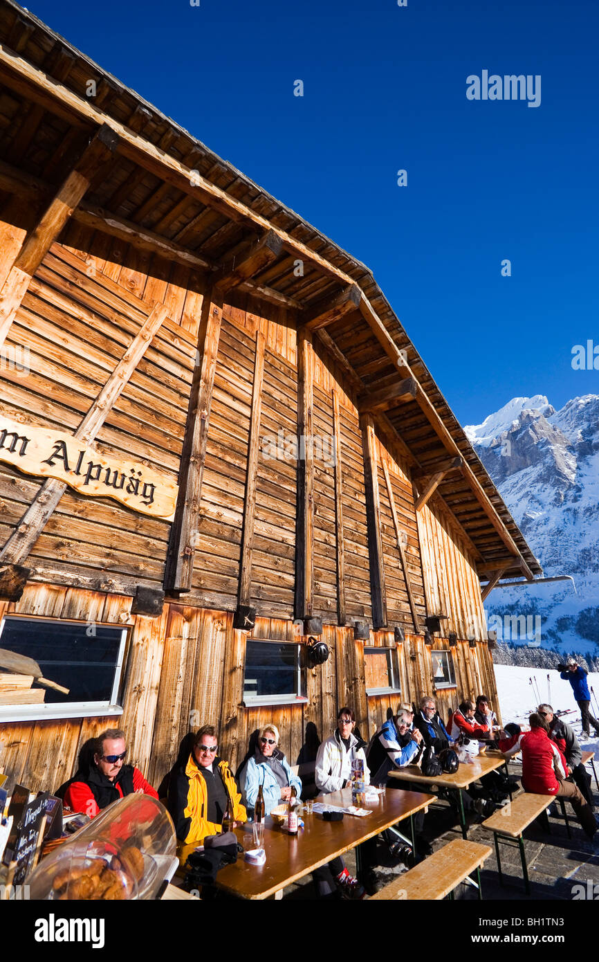
[[[118,254],[122,264],[63,244],[50,249],[7,339],[14,347],[29,349],[30,370],[5,368],[3,405],[25,421],[75,428],[148,311],[156,303],[166,303],[169,318],[97,440],[122,455],[135,455],[176,481],[201,294],[135,269],[141,268],[141,259],[124,256],[122,246],[111,255]],[[192,281],[188,272],[180,280],[188,285]],[[35,479],[24,479],[5,465],[0,468],[3,542],[38,488]],[[30,561],[87,576],[111,570],[125,580],[161,587],[168,532],[166,521],[67,489]]]

